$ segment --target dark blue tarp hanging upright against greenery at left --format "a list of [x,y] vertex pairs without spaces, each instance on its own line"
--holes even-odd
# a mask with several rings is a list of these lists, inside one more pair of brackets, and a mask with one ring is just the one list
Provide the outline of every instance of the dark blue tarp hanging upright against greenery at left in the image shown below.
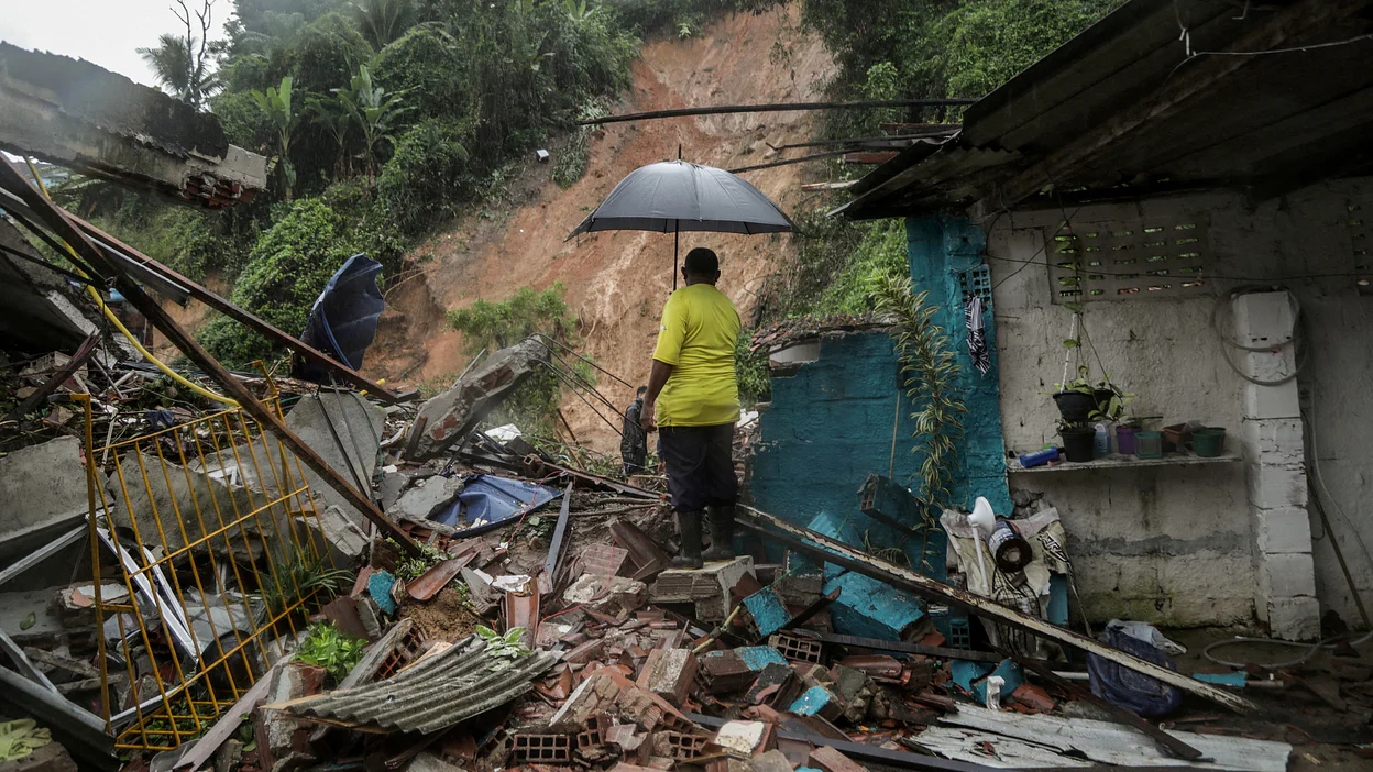
[[[364,254],[347,258],[316,298],[301,339],[353,370],[361,370],[362,354],[376,338],[376,320],[386,310],[382,290],[376,286],[380,272],[382,264]],[[330,382],[328,370],[298,361],[297,378]]]

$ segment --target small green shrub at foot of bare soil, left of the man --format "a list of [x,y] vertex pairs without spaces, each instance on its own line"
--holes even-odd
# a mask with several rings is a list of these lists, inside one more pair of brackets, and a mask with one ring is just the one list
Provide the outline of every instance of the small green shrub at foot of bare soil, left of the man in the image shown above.
[[[493,353],[512,346],[535,332],[573,346],[577,342],[577,317],[567,308],[566,294],[567,288],[557,282],[542,293],[522,287],[498,302],[478,299],[464,309],[450,310],[448,324],[463,332],[467,354],[472,357],[483,349]],[[557,437],[557,405],[564,386],[559,375],[595,385],[590,367],[575,357],[562,357],[566,364],[560,363],[559,356],[553,356],[551,367],[524,381],[487,422],[514,423],[535,437]]]

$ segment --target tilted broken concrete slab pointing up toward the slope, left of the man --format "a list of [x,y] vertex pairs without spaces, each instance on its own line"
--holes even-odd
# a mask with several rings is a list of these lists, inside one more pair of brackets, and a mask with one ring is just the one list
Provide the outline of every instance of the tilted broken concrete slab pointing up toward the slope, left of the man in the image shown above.
[[530,337],[486,359],[449,390],[424,402],[405,444],[406,459],[441,455],[548,361],[548,345]]

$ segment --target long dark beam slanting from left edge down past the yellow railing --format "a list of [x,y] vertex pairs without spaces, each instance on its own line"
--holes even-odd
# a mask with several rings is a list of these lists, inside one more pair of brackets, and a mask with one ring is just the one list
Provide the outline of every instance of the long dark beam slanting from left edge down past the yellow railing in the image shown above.
[[102,271],[103,275],[114,279],[115,286],[124,294],[125,299],[139,309],[144,317],[152,323],[168,339],[181,350],[192,363],[196,364],[206,375],[213,378],[220,386],[229,394],[229,397],[238,400],[239,405],[250,416],[257,419],[264,429],[270,431],[280,440],[287,448],[290,448],[301,462],[309,467],[312,471],[320,475],[325,485],[334,489],[345,501],[356,507],[362,515],[372,521],[376,527],[386,536],[394,538],[409,555],[420,555],[420,548],[415,541],[411,540],[409,534],[400,529],[390,518],[382,514],[376,508],[376,504],[365,493],[357,490],[345,481],[338,471],[334,470],[319,453],[316,453],[309,445],[305,444],[299,437],[291,431],[286,423],[277,418],[276,412],[269,409],[266,405],[258,401],[253,391],[239,382],[222,364],[189,334],[187,332],[168,312],[162,308],[159,302],[148,297],[148,294],[133,282],[126,273],[122,272],[121,266],[110,261],[104,253],[97,249],[91,239],[86,238],[81,229],[78,229],[69,218],[66,212],[44,198],[37,190],[29,185],[27,181],[8,163],[0,163],[0,187],[4,187],[10,192],[18,195],[25,201],[25,203],[32,207],[44,224],[52,229],[60,239],[66,240],[71,249],[77,251],[81,257],[88,260],[93,266]]

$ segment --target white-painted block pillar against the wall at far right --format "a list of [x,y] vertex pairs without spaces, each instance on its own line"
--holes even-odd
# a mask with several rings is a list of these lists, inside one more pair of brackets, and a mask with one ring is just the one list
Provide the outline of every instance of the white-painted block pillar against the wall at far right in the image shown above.
[[[1232,352],[1238,368],[1258,381],[1296,372],[1292,339],[1296,319],[1285,291],[1234,299],[1234,339],[1256,352]],[[1254,606],[1277,637],[1307,640],[1321,633],[1306,512],[1306,460],[1297,383],[1245,383],[1244,446],[1249,516],[1254,521]]]

